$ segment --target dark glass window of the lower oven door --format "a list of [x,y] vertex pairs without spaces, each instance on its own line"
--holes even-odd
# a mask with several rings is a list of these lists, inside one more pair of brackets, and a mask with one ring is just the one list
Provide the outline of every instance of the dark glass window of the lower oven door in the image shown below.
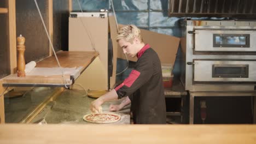
[[241,77],[248,78],[248,64],[213,64],[212,65],[212,77]]

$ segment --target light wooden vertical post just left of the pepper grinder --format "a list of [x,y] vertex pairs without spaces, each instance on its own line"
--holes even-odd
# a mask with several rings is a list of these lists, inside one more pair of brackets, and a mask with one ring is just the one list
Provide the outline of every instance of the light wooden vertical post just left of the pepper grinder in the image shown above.
[[10,73],[16,73],[17,53],[16,53],[16,6],[15,0],[8,1],[9,7],[9,46],[10,46]]

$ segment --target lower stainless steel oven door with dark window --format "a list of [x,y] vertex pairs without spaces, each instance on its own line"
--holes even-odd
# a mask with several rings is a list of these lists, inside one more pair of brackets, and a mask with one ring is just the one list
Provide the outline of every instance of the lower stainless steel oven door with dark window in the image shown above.
[[194,82],[256,82],[256,62],[195,60]]

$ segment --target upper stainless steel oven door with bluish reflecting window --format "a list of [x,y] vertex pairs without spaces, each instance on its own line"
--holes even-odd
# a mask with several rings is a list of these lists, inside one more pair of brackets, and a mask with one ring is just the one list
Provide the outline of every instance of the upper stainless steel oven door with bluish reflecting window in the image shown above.
[[195,52],[256,52],[255,30],[195,29],[190,33]]

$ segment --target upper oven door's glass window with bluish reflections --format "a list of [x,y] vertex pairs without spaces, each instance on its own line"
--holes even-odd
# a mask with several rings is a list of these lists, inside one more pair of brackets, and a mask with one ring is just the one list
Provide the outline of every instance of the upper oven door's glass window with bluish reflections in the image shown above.
[[249,47],[249,34],[213,34],[213,47]]

